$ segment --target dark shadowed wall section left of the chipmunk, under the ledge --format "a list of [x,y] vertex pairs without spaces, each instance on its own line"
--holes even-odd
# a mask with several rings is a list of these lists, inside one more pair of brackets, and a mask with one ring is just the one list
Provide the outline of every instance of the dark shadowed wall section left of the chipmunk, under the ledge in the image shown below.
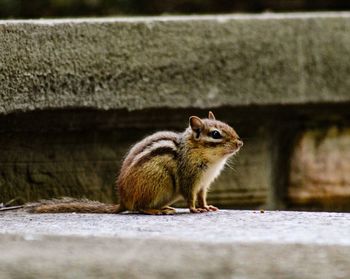
[[115,132],[10,133],[0,142],[2,202],[61,196],[117,201],[115,180],[130,142]]

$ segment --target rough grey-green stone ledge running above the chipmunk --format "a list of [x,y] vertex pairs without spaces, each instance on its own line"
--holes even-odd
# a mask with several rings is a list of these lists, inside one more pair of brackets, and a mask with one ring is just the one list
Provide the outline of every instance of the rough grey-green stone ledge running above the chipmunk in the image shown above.
[[0,113],[349,102],[350,13],[0,21]]

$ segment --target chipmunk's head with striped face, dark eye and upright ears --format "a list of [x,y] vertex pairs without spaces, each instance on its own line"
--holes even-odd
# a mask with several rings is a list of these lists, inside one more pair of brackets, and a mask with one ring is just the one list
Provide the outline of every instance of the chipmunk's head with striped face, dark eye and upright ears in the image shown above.
[[227,158],[243,146],[243,141],[229,125],[215,119],[209,111],[208,118],[190,117],[190,141],[193,148],[202,150],[208,159]]

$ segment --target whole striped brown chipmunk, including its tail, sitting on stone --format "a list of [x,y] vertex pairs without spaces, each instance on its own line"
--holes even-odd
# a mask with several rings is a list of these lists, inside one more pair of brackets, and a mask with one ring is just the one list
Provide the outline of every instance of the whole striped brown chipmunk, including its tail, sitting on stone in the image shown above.
[[32,205],[32,212],[174,214],[170,205],[181,197],[192,213],[217,211],[207,204],[207,191],[242,146],[235,130],[216,120],[211,111],[205,119],[191,116],[183,133],[157,132],[130,149],[117,178],[118,205],[51,200]]

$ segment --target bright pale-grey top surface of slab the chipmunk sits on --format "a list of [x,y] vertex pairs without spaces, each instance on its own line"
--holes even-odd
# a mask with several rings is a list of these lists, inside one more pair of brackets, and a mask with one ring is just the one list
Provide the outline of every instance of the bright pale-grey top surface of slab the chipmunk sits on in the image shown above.
[[9,212],[0,215],[0,233],[350,246],[350,214],[221,210],[198,215],[185,209],[169,216]]

